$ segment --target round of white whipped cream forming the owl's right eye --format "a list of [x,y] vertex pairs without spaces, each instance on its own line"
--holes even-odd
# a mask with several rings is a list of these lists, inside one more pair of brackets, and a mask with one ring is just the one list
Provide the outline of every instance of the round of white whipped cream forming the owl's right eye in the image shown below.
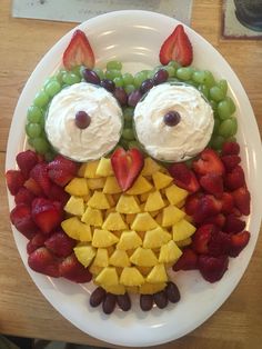
[[[178,124],[164,122],[168,112],[180,114]],[[155,159],[188,160],[208,144],[214,126],[211,106],[193,87],[162,83],[153,87],[134,109],[139,142]]]

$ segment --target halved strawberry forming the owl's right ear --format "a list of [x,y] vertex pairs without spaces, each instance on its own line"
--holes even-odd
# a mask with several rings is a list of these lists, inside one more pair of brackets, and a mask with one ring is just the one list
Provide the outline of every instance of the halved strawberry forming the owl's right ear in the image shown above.
[[164,40],[159,53],[160,62],[165,66],[171,60],[181,66],[190,66],[193,60],[193,49],[189,37],[182,24],[174,28],[174,31]]

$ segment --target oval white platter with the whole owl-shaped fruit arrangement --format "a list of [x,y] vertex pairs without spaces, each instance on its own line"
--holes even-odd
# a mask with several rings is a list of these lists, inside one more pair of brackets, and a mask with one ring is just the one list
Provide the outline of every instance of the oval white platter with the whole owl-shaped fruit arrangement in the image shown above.
[[28,272],[108,342],[192,331],[254,250],[260,147],[240,81],[193,30],[144,11],[82,23],[40,61],[10,129],[10,221]]

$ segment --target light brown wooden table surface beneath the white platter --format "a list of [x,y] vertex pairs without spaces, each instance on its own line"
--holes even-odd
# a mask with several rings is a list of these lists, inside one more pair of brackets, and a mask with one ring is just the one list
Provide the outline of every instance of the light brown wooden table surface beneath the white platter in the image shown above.
[[[221,37],[222,1],[195,0],[192,28],[228,60],[241,80],[262,130],[262,41]],[[9,222],[4,158],[9,127],[19,94],[41,57],[73,23],[14,19],[11,1],[0,11],[0,332],[107,346],[81,332],[42,297],[19,257]],[[239,286],[223,306],[188,336],[154,348],[261,348],[262,236]],[[120,347],[119,347],[120,348]]]

